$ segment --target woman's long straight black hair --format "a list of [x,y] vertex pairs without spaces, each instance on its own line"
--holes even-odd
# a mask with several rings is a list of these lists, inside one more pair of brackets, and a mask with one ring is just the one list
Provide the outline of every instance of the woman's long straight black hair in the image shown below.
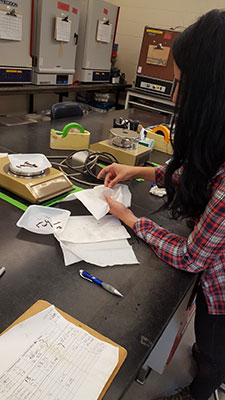
[[[181,70],[175,107],[174,156],[165,183],[174,218],[199,218],[225,162],[225,11],[212,10],[178,36],[173,56]],[[172,175],[182,167],[175,190]]]

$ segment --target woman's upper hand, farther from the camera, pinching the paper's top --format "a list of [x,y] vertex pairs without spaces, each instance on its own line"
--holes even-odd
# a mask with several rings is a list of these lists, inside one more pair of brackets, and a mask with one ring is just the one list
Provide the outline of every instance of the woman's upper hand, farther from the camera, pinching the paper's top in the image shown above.
[[103,168],[99,172],[97,178],[100,179],[103,175],[105,175],[105,186],[112,188],[118,182],[132,179],[135,176],[136,168],[137,167],[132,167],[130,165],[113,163]]

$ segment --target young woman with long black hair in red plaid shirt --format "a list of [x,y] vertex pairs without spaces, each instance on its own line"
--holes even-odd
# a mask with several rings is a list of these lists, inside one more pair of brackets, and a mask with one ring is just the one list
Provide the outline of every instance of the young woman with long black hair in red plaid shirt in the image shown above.
[[212,10],[173,46],[176,101],[174,155],[167,167],[104,168],[105,185],[141,177],[165,186],[173,218],[194,228],[182,238],[106,197],[110,212],[132,227],[163,261],[200,273],[195,335],[198,371],[171,399],[206,400],[225,379],[225,11]]

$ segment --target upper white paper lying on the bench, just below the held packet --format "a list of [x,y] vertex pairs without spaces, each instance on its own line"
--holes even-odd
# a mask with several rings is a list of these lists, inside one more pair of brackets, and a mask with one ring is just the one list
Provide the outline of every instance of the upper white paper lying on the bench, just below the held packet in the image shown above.
[[112,215],[97,221],[89,215],[70,217],[62,232],[57,232],[60,241],[72,243],[96,243],[130,237],[121,222]]

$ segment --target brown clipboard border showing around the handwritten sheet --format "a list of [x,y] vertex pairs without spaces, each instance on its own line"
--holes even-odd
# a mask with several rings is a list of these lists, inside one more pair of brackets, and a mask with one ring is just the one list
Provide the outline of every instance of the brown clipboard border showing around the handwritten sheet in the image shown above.
[[[5,332],[7,332],[9,329],[11,329],[13,326],[19,324],[20,322],[32,317],[33,315],[39,313],[40,311],[45,310],[49,306],[51,306],[49,302],[45,300],[38,300],[36,303],[34,303],[30,308],[28,308],[27,311],[25,311],[24,314],[22,314],[19,318],[17,318],[8,328],[6,328],[1,335],[3,335]],[[122,346],[118,345],[117,343],[113,342],[112,340],[108,339],[107,337],[101,335],[94,329],[90,328],[89,326],[83,324],[82,322],[78,321],[77,319],[71,317],[69,314],[65,313],[64,311],[60,310],[59,308],[55,307],[56,310],[69,322],[72,322],[74,325],[79,326],[80,328],[84,329],[90,335],[95,336],[97,339],[102,340],[104,342],[110,343],[113,346],[118,347],[119,349],[119,360],[116,368],[114,369],[113,373],[109,377],[107,383],[105,384],[104,388],[102,389],[102,392],[100,396],[98,397],[98,400],[101,400],[108,388],[110,387],[113,379],[115,378],[116,374],[118,373],[119,369],[121,368],[122,364],[124,363],[126,357],[127,357],[127,350],[124,349]]]

